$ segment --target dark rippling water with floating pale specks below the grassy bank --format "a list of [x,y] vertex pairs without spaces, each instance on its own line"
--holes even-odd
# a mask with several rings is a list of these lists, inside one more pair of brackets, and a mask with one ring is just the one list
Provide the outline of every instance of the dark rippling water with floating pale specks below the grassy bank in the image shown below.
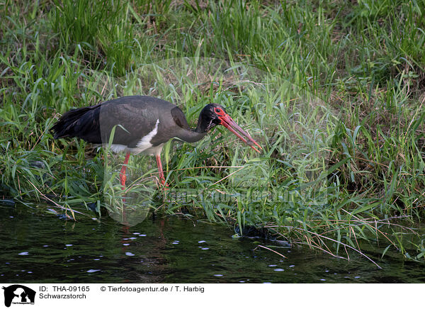
[[126,229],[30,210],[0,206],[0,282],[425,282],[424,264],[387,258],[377,269],[354,254],[348,262],[305,248],[278,249],[283,259],[222,225],[157,218]]

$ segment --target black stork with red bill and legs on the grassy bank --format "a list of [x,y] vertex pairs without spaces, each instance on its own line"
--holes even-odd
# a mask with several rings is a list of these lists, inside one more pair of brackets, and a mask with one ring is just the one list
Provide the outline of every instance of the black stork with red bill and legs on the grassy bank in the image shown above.
[[216,125],[224,125],[257,152],[262,149],[218,104],[205,106],[200,112],[198,125],[192,130],[179,107],[152,96],[124,96],[95,106],[72,109],[64,113],[52,130],[55,139],[79,137],[97,147],[108,145],[115,128],[111,150],[127,152],[120,171],[120,182],[125,189],[125,168],[130,153],[155,155],[159,179],[166,186],[161,163],[164,143],[171,138],[198,142]]

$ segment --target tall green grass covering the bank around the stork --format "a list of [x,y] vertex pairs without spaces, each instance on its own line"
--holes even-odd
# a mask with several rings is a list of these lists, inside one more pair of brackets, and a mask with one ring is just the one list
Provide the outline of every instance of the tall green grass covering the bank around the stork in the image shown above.
[[[362,242],[425,261],[424,1],[10,1],[0,4],[0,192],[123,209],[117,157],[53,140],[70,108],[158,96],[222,129],[132,157],[126,196],[347,257]],[[155,192],[159,192],[155,196]],[[152,197],[154,196],[154,197]]]

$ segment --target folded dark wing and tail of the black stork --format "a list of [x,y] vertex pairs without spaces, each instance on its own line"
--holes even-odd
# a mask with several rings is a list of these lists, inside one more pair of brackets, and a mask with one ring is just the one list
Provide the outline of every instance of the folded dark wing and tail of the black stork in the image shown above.
[[166,142],[188,123],[180,108],[151,96],[125,96],[96,106],[77,108],[64,113],[53,126],[55,138],[80,137],[94,144],[105,144],[115,127],[113,144],[136,147],[142,137],[157,125],[154,146]]

